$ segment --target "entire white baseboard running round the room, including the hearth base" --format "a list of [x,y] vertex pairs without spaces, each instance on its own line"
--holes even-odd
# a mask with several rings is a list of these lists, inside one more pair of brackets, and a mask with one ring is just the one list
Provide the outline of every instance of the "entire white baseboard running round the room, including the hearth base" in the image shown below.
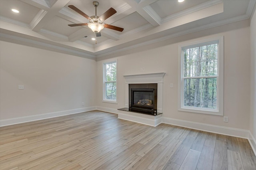
[[[128,121],[133,121],[136,123],[142,123],[145,125],[156,127],[157,125],[161,123],[166,123],[170,125],[176,125],[180,127],[186,127],[186,128],[192,128],[196,130],[203,130],[206,132],[213,132],[218,134],[225,134],[228,136],[235,136],[240,138],[247,138],[250,142],[250,145],[252,146],[252,150],[254,151],[254,154],[256,155],[256,140],[250,130],[244,130],[244,129],[238,129],[238,128],[230,128],[230,127],[221,127],[216,125],[209,125],[204,123],[196,123],[192,121],[184,121],[180,119],[172,119],[168,117],[156,117],[154,120],[148,119],[146,117],[138,117],[135,115],[127,115],[123,113],[118,113],[117,109],[108,108],[108,107],[99,107],[99,106],[92,106],[92,107],[84,107],[79,109],[71,109],[66,111],[57,111],[52,113],[44,113],[40,115],[32,115],[32,116],[25,116],[25,117],[17,117],[12,119],[3,119],[0,120],[0,127],[8,126],[8,125],[14,125],[19,123],[26,123],[31,121],[38,121],[42,119],[49,119],[53,117],[59,117],[59,116],[65,116],[65,115],[72,115],[76,113],[82,113],[86,111],[93,111],[93,110],[99,110],[99,111],[106,111],[110,113],[118,114],[119,119],[124,119]],[[162,116],[162,115],[161,115]]]

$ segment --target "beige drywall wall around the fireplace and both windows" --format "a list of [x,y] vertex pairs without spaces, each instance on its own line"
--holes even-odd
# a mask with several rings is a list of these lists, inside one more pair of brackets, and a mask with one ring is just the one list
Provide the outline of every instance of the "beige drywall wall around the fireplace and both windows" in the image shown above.
[[[208,30],[165,40],[155,44],[120,52],[97,61],[97,106],[124,107],[125,80],[122,75],[160,73],[164,76],[163,116],[223,127],[249,129],[250,112],[250,21],[244,20]],[[178,111],[178,45],[187,40],[224,36],[224,116]],[[196,39],[195,39],[196,40]],[[110,57],[113,57],[112,59]],[[102,63],[118,60],[118,103],[102,102]],[[140,68],[144,68],[141,71]],[[170,88],[170,83],[174,84]]]

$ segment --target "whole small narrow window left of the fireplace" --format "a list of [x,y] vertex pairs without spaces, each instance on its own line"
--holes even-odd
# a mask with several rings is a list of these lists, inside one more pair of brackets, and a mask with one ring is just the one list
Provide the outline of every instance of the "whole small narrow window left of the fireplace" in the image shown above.
[[117,73],[117,62],[112,61],[103,64],[103,79],[104,79],[104,89],[103,89],[103,101],[116,103],[116,73]]

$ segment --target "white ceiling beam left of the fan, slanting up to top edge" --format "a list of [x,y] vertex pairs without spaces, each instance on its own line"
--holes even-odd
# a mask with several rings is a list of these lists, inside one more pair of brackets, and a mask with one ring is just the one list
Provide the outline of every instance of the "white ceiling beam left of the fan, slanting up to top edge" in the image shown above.
[[31,29],[38,32],[44,27],[70,0],[57,0],[49,10],[40,10],[30,22]]

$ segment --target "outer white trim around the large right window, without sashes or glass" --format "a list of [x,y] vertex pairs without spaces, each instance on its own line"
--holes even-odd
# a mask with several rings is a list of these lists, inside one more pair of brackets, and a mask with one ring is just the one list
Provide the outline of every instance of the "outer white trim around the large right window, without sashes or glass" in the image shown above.
[[[195,108],[195,107],[184,107],[182,106],[182,95],[183,95],[183,58],[182,57],[182,47],[187,47],[190,45],[198,45],[200,43],[214,42],[218,41],[218,86],[217,86],[217,104],[218,108],[216,110],[206,109],[206,108]],[[182,87],[182,88],[181,88]],[[189,41],[182,43],[178,47],[178,111],[192,112],[192,113],[202,113],[208,115],[219,115],[223,116],[223,93],[224,93],[224,37],[209,38],[199,41]]]

